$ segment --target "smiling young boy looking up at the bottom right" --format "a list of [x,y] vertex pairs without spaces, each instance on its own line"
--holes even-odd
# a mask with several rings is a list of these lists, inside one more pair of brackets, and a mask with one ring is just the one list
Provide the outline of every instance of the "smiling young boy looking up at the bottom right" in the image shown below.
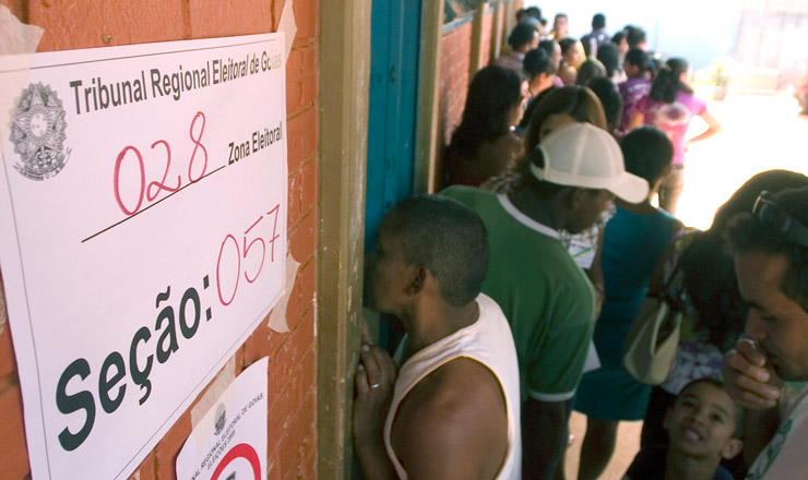
[[626,472],[629,480],[733,480],[720,466],[740,453],[744,410],[714,379],[700,379],[679,394],[665,417],[667,448],[645,448]]

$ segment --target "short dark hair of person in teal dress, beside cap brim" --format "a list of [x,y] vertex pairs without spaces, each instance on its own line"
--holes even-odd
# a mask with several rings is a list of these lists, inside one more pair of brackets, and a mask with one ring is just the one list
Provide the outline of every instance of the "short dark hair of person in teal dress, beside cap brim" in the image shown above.
[[662,130],[642,125],[620,142],[626,171],[642,177],[653,188],[674,159],[674,144]]

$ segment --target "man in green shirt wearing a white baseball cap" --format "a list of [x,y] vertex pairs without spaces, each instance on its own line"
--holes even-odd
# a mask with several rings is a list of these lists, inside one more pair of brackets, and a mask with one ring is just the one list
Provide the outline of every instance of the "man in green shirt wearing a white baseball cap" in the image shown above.
[[526,145],[522,179],[497,195],[467,187],[442,194],[477,212],[489,233],[483,291],[511,324],[522,381],[523,475],[549,479],[567,440],[570,400],[581,380],[594,329],[594,291],[561,242],[610,206],[647,196],[647,182],[627,173],[617,142],[590,123],[559,127]]

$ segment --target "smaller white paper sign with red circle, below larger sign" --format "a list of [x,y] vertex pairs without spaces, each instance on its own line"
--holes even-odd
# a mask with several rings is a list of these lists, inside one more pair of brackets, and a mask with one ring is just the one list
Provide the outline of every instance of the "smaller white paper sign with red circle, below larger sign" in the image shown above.
[[266,365],[251,364],[193,428],[177,456],[177,478],[266,480]]

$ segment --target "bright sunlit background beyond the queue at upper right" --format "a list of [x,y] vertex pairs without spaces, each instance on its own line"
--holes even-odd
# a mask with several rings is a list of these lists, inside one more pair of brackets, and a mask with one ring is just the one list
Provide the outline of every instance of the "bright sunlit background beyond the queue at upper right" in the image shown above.
[[[566,13],[575,38],[592,29],[598,12],[609,34],[640,26],[650,50],[684,57],[693,67],[697,96],[708,100],[724,130],[686,156],[677,216],[687,225],[709,228],[715,209],[754,173],[808,173],[808,118],[794,98],[808,73],[808,0],[525,1],[530,5],[542,9],[548,27],[556,13]],[[723,100],[715,99],[718,76],[727,80]],[[688,134],[704,128],[697,118]]]

